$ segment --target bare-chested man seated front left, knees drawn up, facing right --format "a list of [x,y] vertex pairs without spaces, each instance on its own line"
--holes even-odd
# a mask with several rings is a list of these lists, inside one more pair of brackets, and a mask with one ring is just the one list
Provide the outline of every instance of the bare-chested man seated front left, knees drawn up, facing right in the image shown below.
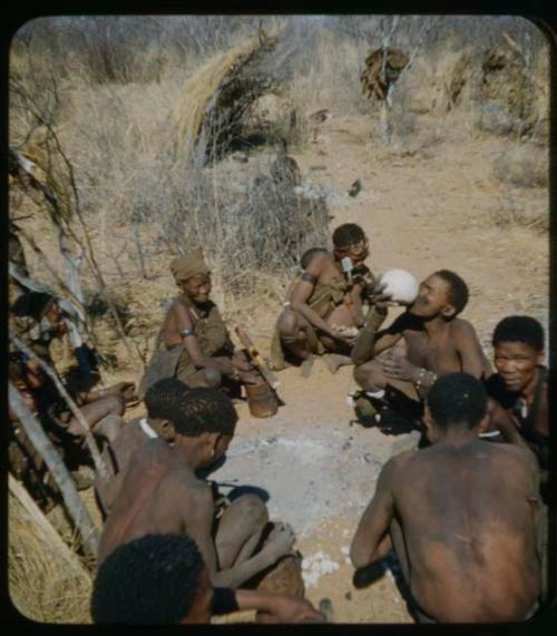
[[148,534],[187,534],[207,564],[213,585],[237,587],[291,552],[294,535],[276,524],[263,548],[268,513],[244,495],[215,518],[212,488],[196,471],[218,461],[237,415],[229,398],[209,388],[188,391],[168,427],[131,457],[100,539],[98,562],[118,546]]

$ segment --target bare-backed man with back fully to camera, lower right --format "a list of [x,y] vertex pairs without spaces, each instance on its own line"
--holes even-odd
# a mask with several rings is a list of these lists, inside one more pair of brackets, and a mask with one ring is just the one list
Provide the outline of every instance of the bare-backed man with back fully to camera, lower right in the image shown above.
[[479,440],[487,418],[478,380],[439,378],[424,417],[432,446],[389,460],[352,541],[355,568],[394,548],[420,622],[525,620],[537,609],[536,459]]

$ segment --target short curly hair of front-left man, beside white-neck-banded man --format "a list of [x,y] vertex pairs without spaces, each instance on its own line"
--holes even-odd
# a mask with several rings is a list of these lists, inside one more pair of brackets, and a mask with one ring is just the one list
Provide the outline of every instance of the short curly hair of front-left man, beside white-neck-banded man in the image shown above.
[[190,389],[178,400],[172,421],[187,437],[202,433],[234,434],[238,415],[232,400],[217,389]]

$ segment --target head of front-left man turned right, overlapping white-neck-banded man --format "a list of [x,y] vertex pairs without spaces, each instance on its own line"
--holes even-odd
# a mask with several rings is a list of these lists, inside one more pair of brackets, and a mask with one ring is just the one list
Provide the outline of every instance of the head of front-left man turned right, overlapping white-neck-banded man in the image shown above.
[[196,468],[224,457],[238,420],[232,400],[216,389],[196,388],[178,400],[169,425],[169,442],[196,447]]

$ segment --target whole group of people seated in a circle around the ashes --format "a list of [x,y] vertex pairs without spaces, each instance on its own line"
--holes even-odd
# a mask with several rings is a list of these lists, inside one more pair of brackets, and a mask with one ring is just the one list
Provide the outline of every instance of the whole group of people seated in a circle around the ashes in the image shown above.
[[[363,425],[421,432],[419,448],[397,454],[380,472],[354,528],[354,568],[373,580],[394,554],[418,622],[530,618],[548,586],[541,325],[529,316],[501,320],[492,334],[494,371],[473,326],[459,317],[466,283],[440,270],[383,329],[395,303],[364,264],[368,237],[344,224],[332,238],[332,252],[313,248],[302,257],[276,321],[272,363],[281,370],[325,355],[333,372],[351,364]],[[233,399],[242,385],[264,379],[234,348],[211,301],[202,251],[176,258],[170,271],[180,294],[139,383],[145,417],[123,419],[133,383],[72,393],[109,467],[108,476],[95,477],[105,522],[94,620],[206,623],[238,609],[257,610],[261,622],[324,620],[303,598],[292,529],[271,521],[256,495],[237,489],[224,496],[208,479],[235,432]],[[39,343],[36,351],[48,359],[49,337],[63,335],[56,300],[16,304],[13,315],[26,320],[11,329],[30,348]],[[85,453],[82,430],[36,362],[12,351],[9,369],[65,461],[69,449]],[[13,413],[10,420],[10,468],[20,479],[35,474],[43,487],[46,468]]]

